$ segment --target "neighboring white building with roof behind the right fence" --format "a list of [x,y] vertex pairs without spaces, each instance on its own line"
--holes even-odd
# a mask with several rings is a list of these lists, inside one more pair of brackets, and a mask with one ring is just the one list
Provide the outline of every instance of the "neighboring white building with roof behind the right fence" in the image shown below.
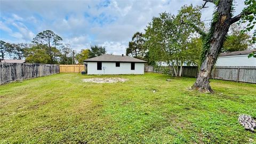
[[255,58],[248,55],[256,50],[220,53],[215,66],[256,66]]

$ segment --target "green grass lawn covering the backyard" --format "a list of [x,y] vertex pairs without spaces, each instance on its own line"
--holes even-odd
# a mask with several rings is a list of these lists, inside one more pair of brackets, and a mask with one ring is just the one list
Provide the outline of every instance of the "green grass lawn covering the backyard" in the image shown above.
[[[123,77],[113,84],[82,82]],[[0,86],[0,143],[255,143],[238,124],[256,117],[256,84],[195,78],[56,74]],[[156,90],[156,92],[153,92]]]

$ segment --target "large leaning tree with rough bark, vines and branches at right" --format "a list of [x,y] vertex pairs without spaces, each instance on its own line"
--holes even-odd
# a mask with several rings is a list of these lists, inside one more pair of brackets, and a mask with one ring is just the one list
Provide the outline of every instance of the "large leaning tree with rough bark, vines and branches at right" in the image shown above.
[[249,21],[251,26],[247,27],[247,29],[252,29],[255,25],[256,2],[255,0],[246,0],[245,9],[240,14],[233,17],[233,0],[203,1],[205,1],[203,7],[205,7],[208,2],[213,3],[215,5],[215,11],[213,13],[210,30],[207,33],[196,25],[190,25],[194,27],[203,38],[201,67],[192,88],[199,91],[213,92],[209,79],[213,66],[217,61],[218,54],[221,52],[221,47],[223,46],[229,27],[242,19],[243,21]]

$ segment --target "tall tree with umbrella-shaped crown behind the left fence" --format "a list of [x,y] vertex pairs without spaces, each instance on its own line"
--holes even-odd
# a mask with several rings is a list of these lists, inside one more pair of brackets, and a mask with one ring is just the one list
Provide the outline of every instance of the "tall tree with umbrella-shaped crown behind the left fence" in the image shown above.
[[54,63],[54,53],[53,47],[58,49],[57,47],[62,45],[62,38],[57,34],[54,34],[51,30],[44,30],[41,33],[38,33],[36,37],[33,38],[33,43],[41,44],[46,46],[46,52],[50,57],[50,63]]

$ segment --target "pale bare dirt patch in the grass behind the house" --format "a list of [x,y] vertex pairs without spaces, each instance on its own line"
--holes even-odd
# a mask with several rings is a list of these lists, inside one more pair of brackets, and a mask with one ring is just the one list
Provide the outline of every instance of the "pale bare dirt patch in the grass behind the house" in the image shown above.
[[103,77],[103,78],[86,78],[83,79],[83,82],[90,82],[90,83],[117,83],[117,82],[126,82],[126,78],[119,78],[119,77]]

